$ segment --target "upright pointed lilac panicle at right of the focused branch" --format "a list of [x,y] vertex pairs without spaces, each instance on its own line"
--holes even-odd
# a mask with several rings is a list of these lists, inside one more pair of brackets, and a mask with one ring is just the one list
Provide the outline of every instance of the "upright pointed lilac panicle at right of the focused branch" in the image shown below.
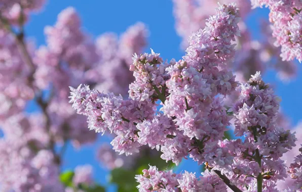
[[240,101],[235,106],[235,132],[241,135],[253,126],[274,130],[279,102],[280,99],[274,95],[274,91],[263,82],[260,73],[257,72],[248,83],[241,86]]

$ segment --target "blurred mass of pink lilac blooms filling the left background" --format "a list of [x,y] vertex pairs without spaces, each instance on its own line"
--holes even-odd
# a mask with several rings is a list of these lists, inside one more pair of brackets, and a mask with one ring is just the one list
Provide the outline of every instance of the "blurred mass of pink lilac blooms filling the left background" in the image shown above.
[[[120,39],[105,33],[94,40],[69,7],[53,26],[45,27],[46,45],[36,48],[23,27],[30,13],[44,3],[0,2],[1,191],[65,190],[58,175],[67,143],[79,148],[97,138],[87,128],[86,118],[70,107],[68,86],[84,82],[126,95],[126,85],[133,81],[131,56],[147,43],[143,23],[129,27]],[[25,107],[30,100],[37,111],[28,114]],[[74,182],[91,184],[91,169],[88,165],[75,169]]]

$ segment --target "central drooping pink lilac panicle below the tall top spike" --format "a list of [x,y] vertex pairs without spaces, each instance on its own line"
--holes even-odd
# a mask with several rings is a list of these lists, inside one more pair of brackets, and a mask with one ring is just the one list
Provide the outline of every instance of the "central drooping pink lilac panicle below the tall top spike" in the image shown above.
[[190,152],[190,156],[202,164],[205,156],[196,146],[204,147],[209,139],[221,139],[225,127],[230,125],[222,101],[215,97],[235,90],[235,76],[218,68],[198,71],[185,60],[169,66],[166,71],[171,76],[166,81],[169,95],[161,110],[175,118],[178,131],[162,146],[161,157],[178,164]]

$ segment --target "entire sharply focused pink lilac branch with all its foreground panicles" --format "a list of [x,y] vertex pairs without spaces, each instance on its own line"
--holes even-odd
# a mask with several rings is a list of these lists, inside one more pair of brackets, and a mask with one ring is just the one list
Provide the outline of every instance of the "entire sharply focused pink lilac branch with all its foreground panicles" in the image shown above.
[[[70,87],[72,108],[87,116],[90,129],[112,133],[116,152],[132,155],[147,145],[176,165],[188,156],[206,165],[199,179],[150,167],[136,176],[139,191],[275,191],[287,176],[281,157],[296,138],[278,126],[279,98],[260,72],[239,88],[227,68],[235,57],[239,21],[235,4],[219,6],[178,62],[164,62],[153,50],[135,54],[129,100],[88,85]],[[234,92],[239,99],[228,110],[221,97]],[[223,139],[232,117],[244,140]]]

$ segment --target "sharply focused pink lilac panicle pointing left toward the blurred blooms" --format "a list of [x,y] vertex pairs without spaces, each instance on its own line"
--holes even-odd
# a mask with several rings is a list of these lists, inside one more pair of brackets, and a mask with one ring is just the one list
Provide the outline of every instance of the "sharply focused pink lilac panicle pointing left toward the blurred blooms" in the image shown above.
[[[152,118],[154,114],[152,103],[123,101],[122,96],[113,93],[100,93],[90,90],[88,86],[75,89],[70,87],[70,103],[79,114],[88,116],[88,127],[96,132],[106,130],[116,134],[111,141],[114,150],[126,155],[137,153],[141,146],[137,141],[136,124]],[[128,118],[128,119],[127,119]]]

